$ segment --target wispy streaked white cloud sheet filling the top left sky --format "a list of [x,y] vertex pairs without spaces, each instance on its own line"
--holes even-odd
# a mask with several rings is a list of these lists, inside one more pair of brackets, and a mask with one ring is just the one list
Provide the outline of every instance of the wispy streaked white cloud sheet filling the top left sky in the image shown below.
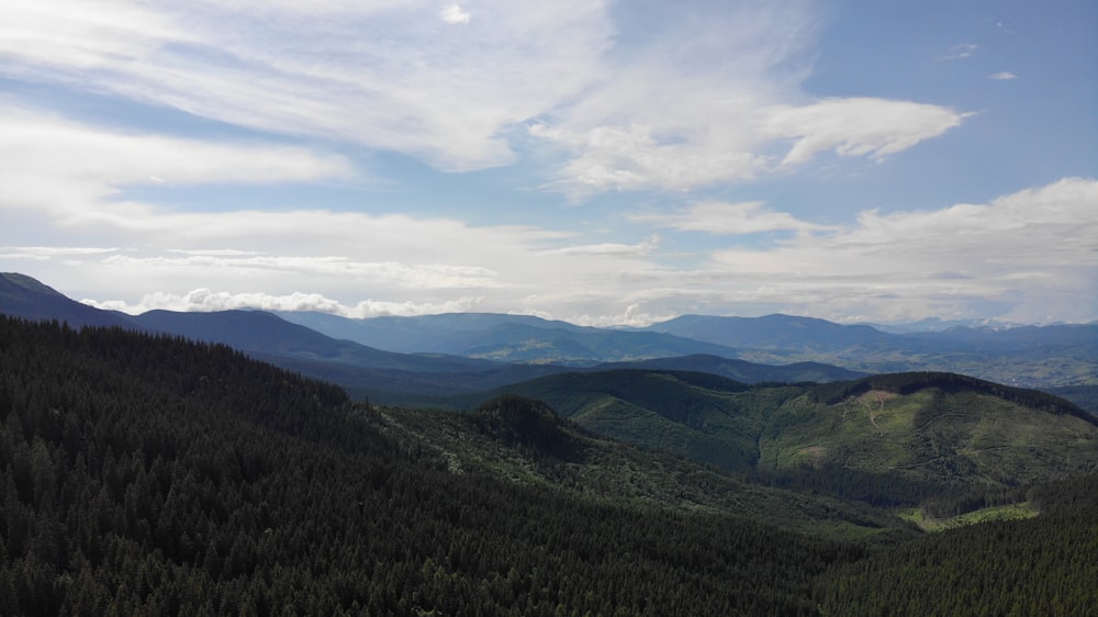
[[461,170],[509,161],[502,132],[575,96],[613,35],[585,0],[492,2],[484,20],[426,0],[293,4],[16,3],[0,74]]

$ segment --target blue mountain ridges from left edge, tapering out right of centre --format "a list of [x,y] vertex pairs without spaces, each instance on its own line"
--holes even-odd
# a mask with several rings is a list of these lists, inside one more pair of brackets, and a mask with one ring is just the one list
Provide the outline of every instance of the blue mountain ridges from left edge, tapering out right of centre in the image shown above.
[[[602,370],[605,362],[601,358],[613,359],[610,368],[628,366],[630,358],[643,358],[649,368],[708,370],[749,382],[830,381],[864,374],[814,363],[758,364],[713,355],[735,354],[726,347],[673,335],[584,328],[537,317],[462,314],[411,322],[382,318],[374,324],[307,315],[311,323],[327,324],[325,329],[337,336],[340,332],[333,328],[365,327],[380,333],[378,336],[391,347],[407,351],[435,341],[422,354],[400,352],[346,339],[350,337],[327,336],[261,311],[149,311],[135,316],[100,311],[22,274],[0,274],[0,313],[35,321],[57,319],[72,327],[117,326],[222,343],[257,359],[343,385],[355,396],[382,403],[437,404],[455,394],[548,374]],[[403,346],[393,345],[401,340],[405,341]],[[449,343],[440,346],[438,341],[442,340]],[[466,354],[453,352],[455,348]],[[522,349],[536,351],[524,355]]]

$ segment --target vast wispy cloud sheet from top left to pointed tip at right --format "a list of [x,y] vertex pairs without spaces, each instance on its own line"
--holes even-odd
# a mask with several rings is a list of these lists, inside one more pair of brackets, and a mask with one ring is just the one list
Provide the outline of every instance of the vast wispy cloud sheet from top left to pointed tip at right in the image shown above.
[[[787,164],[836,147],[881,156],[960,120],[875,101],[870,117],[888,124],[865,128],[843,121],[869,99],[804,104],[820,23],[804,0],[632,16],[606,1],[495,0],[475,20],[427,0],[299,4],[21,3],[0,23],[0,74],[446,170],[549,146],[564,157],[549,186],[578,197],[754,178],[773,170],[775,139],[797,141]],[[798,132],[820,114],[841,124]]]

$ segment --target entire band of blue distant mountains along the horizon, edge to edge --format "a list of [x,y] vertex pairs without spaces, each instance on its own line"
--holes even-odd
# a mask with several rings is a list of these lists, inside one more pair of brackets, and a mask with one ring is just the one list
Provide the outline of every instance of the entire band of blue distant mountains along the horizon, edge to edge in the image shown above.
[[130,316],[86,306],[23,274],[0,276],[0,312],[224,343],[378,402],[434,404],[581,369],[694,370],[746,383],[922,370],[1055,391],[1098,412],[1098,324],[892,334],[789,315],[684,315],[647,328],[493,313],[368,319],[258,311]]

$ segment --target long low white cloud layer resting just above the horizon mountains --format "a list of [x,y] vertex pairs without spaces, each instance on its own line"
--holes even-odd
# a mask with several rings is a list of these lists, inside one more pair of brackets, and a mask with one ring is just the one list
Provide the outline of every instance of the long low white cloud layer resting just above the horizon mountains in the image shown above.
[[[698,216],[691,218],[691,213]],[[732,220],[738,214],[742,222],[721,225],[724,218],[714,213],[732,213]],[[26,255],[66,263],[76,260],[82,270],[126,277],[138,289],[155,287],[160,280],[178,285],[221,279],[237,289],[239,281],[253,281],[256,289],[280,289],[281,282],[287,290],[180,290],[146,294],[134,304],[99,303],[132,312],[251,306],[363,317],[479,310],[605,325],[643,324],[677,314],[682,306],[703,313],[724,313],[735,306],[742,314],[783,307],[843,322],[972,317],[990,312],[1004,319],[1037,323],[1086,319],[1098,307],[1094,284],[1098,280],[1098,182],[1090,179],[1068,178],[984,204],[890,214],[866,211],[856,224],[844,227],[804,226],[758,204],[701,204],[680,217],[645,220],[657,228],[729,238],[726,248],[706,254],[703,267],[686,269],[669,266],[674,259],[661,250],[658,237],[637,245],[569,246],[567,237],[533,228],[477,228],[453,221],[373,220],[326,212],[274,216],[271,246],[279,243],[278,229],[287,236],[307,232],[306,220],[317,231],[314,249],[323,242],[346,243],[340,249],[352,257],[214,250],[150,257],[117,249],[3,251],[10,259]],[[235,226],[243,235],[250,225],[246,215],[227,213],[219,226]],[[333,232],[339,228],[348,232]],[[768,228],[792,228],[797,234],[764,247],[742,246],[741,234]],[[385,236],[418,242],[403,251],[370,243],[358,250],[350,247],[352,237]],[[500,246],[503,236],[511,242]],[[466,255],[466,263],[413,257],[437,243]],[[406,260],[371,260],[381,254]],[[303,294],[294,289],[327,292]],[[360,290],[359,298],[368,300],[334,298],[348,298],[354,293],[348,289]],[[546,306],[556,308],[546,311]]]

